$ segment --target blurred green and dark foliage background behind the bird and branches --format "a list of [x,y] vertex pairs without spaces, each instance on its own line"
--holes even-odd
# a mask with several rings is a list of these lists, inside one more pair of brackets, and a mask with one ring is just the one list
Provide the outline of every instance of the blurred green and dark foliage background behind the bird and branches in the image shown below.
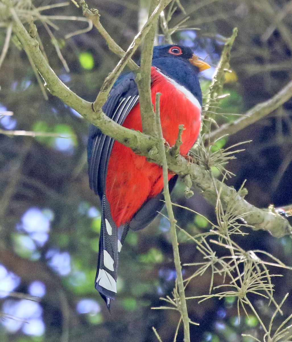
[[[35,7],[53,3],[61,1],[33,1]],[[218,111],[228,114],[217,115],[218,124],[233,120],[237,117],[234,115],[242,114],[271,97],[292,79],[290,1],[181,0],[181,4],[189,19],[183,30],[173,34],[173,41],[190,45],[203,58],[208,55],[207,61],[214,66],[219,60],[224,37],[229,37],[232,29],[238,27],[231,57],[231,68],[236,77],[226,79],[224,93],[230,96],[220,101]],[[99,0],[88,1],[88,5],[99,9],[102,24],[126,50],[137,32],[144,2]],[[73,2],[68,6],[48,8],[42,13],[82,16]],[[183,12],[177,10],[169,27],[174,27],[184,17]],[[71,90],[93,101],[118,57],[108,51],[95,29],[64,39],[65,35],[87,27],[86,22],[53,22],[57,27],[50,29],[70,73],[65,71],[52,37],[38,20],[35,24],[51,67]],[[191,29],[194,27],[200,30]],[[163,41],[162,37],[159,39]],[[1,47],[4,40],[5,27],[0,27]],[[3,285],[12,291],[30,293],[30,285],[35,280],[43,282],[46,288],[38,310],[31,313],[31,317],[27,318],[26,313],[23,313],[25,318],[19,317],[20,313],[15,309],[10,313],[20,321],[12,324],[9,323],[11,319],[4,318],[0,340],[149,342],[156,341],[151,330],[155,325],[163,342],[172,341],[177,314],[173,310],[151,310],[151,307],[163,305],[159,297],[170,295],[175,283],[167,222],[163,219],[160,222],[161,218],[158,218],[143,231],[137,234],[130,232],[127,236],[119,262],[117,300],[109,315],[93,285],[100,216],[96,209],[99,199],[89,190],[87,179],[88,124],[58,98],[48,94],[49,101],[44,100],[30,63],[18,45],[12,37],[0,69],[0,110],[14,113],[12,117],[1,116],[1,128],[54,132],[71,137],[11,138],[0,135],[0,262],[3,267],[0,268],[0,288]],[[208,85],[208,80],[202,80],[203,90]],[[292,101],[288,101],[267,118],[217,145],[226,148],[253,140],[245,146],[244,152],[237,154],[237,159],[230,161],[228,169],[236,177],[228,180],[228,184],[238,189],[246,179],[245,186],[249,190],[246,199],[258,207],[292,202],[291,109]],[[184,197],[181,183],[175,188],[172,198],[212,221],[215,219],[214,208],[198,192],[189,199]],[[26,214],[31,208],[40,211],[35,226],[26,225]],[[46,210],[52,213],[52,217],[46,216]],[[174,207],[174,211],[179,226],[190,234],[209,229],[201,216],[180,207]],[[35,222],[35,216],[29,222]],[[43,227],[42,236],[36,234],[40,227]],[[265,232],[251,232],[248,237],[238,235],[235,241],[245,250],[262,249],[282,262],[292,264],[289,237],[275,239]],[[180,253],[183,264],[201,261],[194,244],[184,234],[180,235]],[[223,256],[223,248],[218,246],[217,253]],[[184,267],[183,272],[186,278],[192,274],[190,267]],[[273,279],[278,302],[291,292],[292,273],[283,269],[282,274],[283,277]],[[190,282],[186,295],[202,295],[209,284],[210,274],[206,272]],[[221,284],[220,277],[214,278],[214,284]],[[12,308],[8,294],[1,292],[0,295],[2,309]],[[96,306],[81,313],[76,307],[82,299],[92,299]],[[254,301],[254,305],[268,323],[274,308],[259,299]],[[241,333],[262,338],[252,313],[248,319],[243,315],[238,320],[236,298],[221,301],[213,298],[202,304],[198,304],[198,300],[190,300],[188,310],[190,318],[200,323],[199,327],[191,326],[193,341],[251,341]],[[290,315],[291,298],[283,304],[282,311],[284,318]],[[39,333],[40,336],[26,330],[25,327],[33,326],[33,323],[25,323],[24,319],[28,322],[39,320],[39,326],[43,321],[45,329]],[[181,341],[182,336],[179,330],[177,340]]]

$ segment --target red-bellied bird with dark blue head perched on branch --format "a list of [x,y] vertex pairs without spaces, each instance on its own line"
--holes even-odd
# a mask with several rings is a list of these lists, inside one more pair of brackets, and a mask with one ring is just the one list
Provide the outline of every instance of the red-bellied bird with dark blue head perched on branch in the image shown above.
[[[210,66],[182,45],[153,49],[151,101],[160,97],[160,118],[165,141],[174,145],[178,126],[184,125],[180,154],[187,155],[201,126],[202,91],[198,74]],[[132,72],[118,77],[103,112],[123,127],[142,132],[138,88]],[[95,288],[108,310],[117,293],[118,257],[129,229],[146,227],[163,203],[162,168],[136,155],[90,125],[87,145],[89,185],[101,201],[101,231]],[[169,172],[170,192],[177,175]]]

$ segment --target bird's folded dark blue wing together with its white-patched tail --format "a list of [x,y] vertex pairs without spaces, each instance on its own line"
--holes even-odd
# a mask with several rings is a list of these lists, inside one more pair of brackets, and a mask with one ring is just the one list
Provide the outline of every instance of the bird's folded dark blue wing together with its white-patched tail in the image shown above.
[[[104,113],[118,124],[123,124],[130,110],[138,103],[139,95],[134,75],[128,74],[114,86]],[[116,227],[111,215],[110,205],[105,195],[108,161],[114,139],[104,135],[100,129],[91,125],[88,140],[89,185],[101,199],[101,232],[99,239],[98,267],[95,287],[110,309],[111,299],[115,298],[118,254],[129,231],[129,225]]]

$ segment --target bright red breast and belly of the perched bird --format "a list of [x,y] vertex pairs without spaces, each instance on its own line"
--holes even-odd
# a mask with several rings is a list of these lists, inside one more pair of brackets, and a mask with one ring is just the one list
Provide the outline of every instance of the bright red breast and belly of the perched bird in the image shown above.
[[[201,124],[201,109],[195,106],[183,93],[173,86],[163,87],[154,83],[151,88],[152,103],[157,92],[160,97],[160,117],[164,139],[175,144],[178,125],[184,124],[183,144],[180,153],[187,154],[196,141]],[[123,126],[142,131],[140,105],[137,104],[127,116]],[[169,175],[169,180],[173,175]],[[106,197],[111,206],[113,220],[117,227],[129,222],[143,203],[158,195],[163,189],[162,168],[146,161],[119,142],[115,142],[108,162]]]

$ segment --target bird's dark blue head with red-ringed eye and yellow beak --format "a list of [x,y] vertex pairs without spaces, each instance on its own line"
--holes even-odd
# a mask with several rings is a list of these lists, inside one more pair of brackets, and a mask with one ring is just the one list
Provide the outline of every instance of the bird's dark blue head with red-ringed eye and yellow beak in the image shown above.
[[210,66],[198,59],[189,47],[160,45],[153,49],[152,65],[187,88],[202,105],[202,92],[198,74]]

